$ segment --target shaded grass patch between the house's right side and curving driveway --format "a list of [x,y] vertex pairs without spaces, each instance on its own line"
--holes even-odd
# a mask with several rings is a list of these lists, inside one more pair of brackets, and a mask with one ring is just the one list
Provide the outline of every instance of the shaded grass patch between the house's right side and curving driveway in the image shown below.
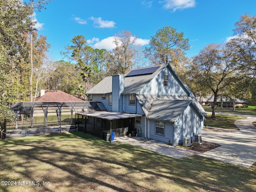
[[244,119],[245,117],[241,116],[228,116],[228,115],[217,115],[215,114],[216,119],[213,120],[210,118],[211,115],[206,115],[206,120],[204,120],[204,126],[209,127],[218,127],[218,128],[224,128],[224,129],[234,129],[239,130],[234,122],[239,119]]

